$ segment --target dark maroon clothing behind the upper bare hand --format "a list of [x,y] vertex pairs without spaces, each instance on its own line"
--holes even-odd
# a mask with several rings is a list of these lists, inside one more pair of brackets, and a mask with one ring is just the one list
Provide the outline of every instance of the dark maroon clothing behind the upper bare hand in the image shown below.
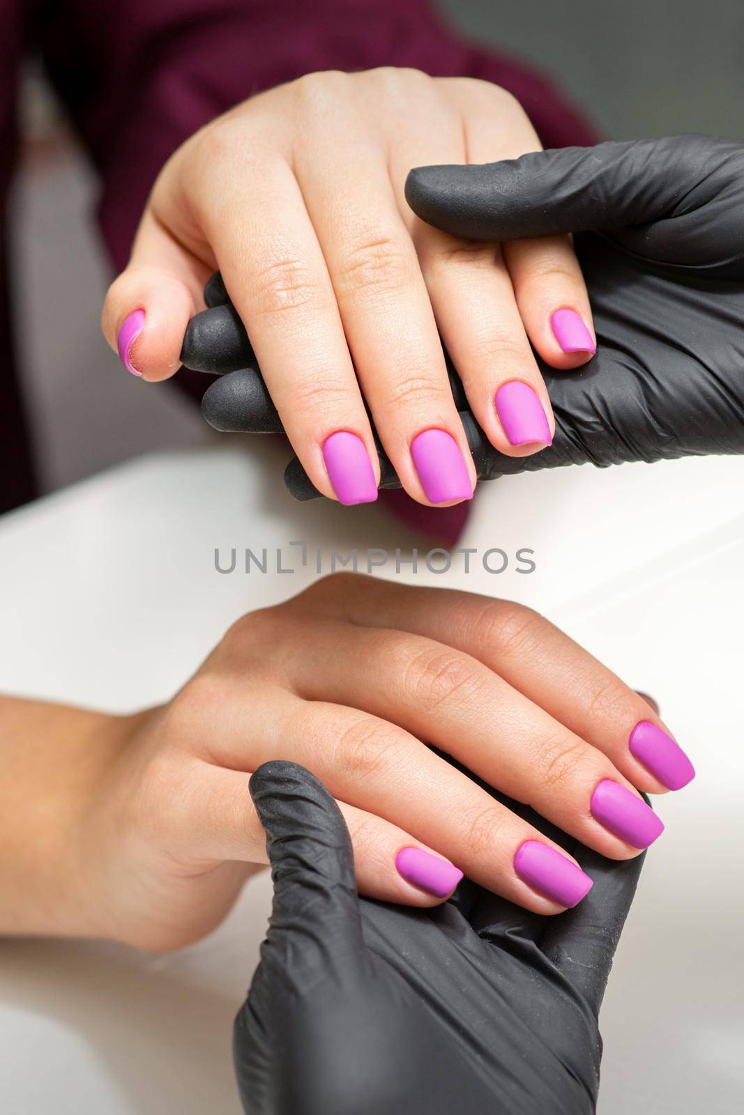
[[[552,85],[457,38],[427,0],[0,0],[0,205],[13,158],[18,60],[30,49],[41,51],[99,173],[98,219],[116,270],[126,263],[148,191],[168,155],[229,106],[313,70],[390,65],[486,78],[518,97],[544,146],[596,142]],[[0,308],[0,336],[8,336],[7,303]],[[20,430],[21,411],[7,387],[10,353],[0,351],[0,359],[7,361],[0,379],[0,385],[6,380],[0,386],[6,447]],[[202,377],[182,372],[176,379],[201,396]],[[11,404],[15,413],[6,413]],[[18,437],[15,452],[20,462]],[[30,472],[15,495],[2,484],[0,510],[28,497]]]

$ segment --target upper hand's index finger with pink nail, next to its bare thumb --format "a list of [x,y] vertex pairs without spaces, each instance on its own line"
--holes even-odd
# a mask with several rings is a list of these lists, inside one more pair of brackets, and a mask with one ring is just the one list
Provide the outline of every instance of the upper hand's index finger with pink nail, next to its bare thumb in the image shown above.
[[241,171],[225,197],[210,200],[201,220],[284,430],[318,491],[370,502],[378,475],[371,428],[298,183],[274,162]]

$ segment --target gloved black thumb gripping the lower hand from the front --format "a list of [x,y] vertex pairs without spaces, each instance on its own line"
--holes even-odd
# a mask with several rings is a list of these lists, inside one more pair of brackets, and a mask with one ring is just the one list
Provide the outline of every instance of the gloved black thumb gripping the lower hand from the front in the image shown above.
[[262,964],[284,980],[313,980],[341,958],[364,954],[351,841],[321,783],[296,763],[273,759],[251,776],[267,832],[273,906]]

